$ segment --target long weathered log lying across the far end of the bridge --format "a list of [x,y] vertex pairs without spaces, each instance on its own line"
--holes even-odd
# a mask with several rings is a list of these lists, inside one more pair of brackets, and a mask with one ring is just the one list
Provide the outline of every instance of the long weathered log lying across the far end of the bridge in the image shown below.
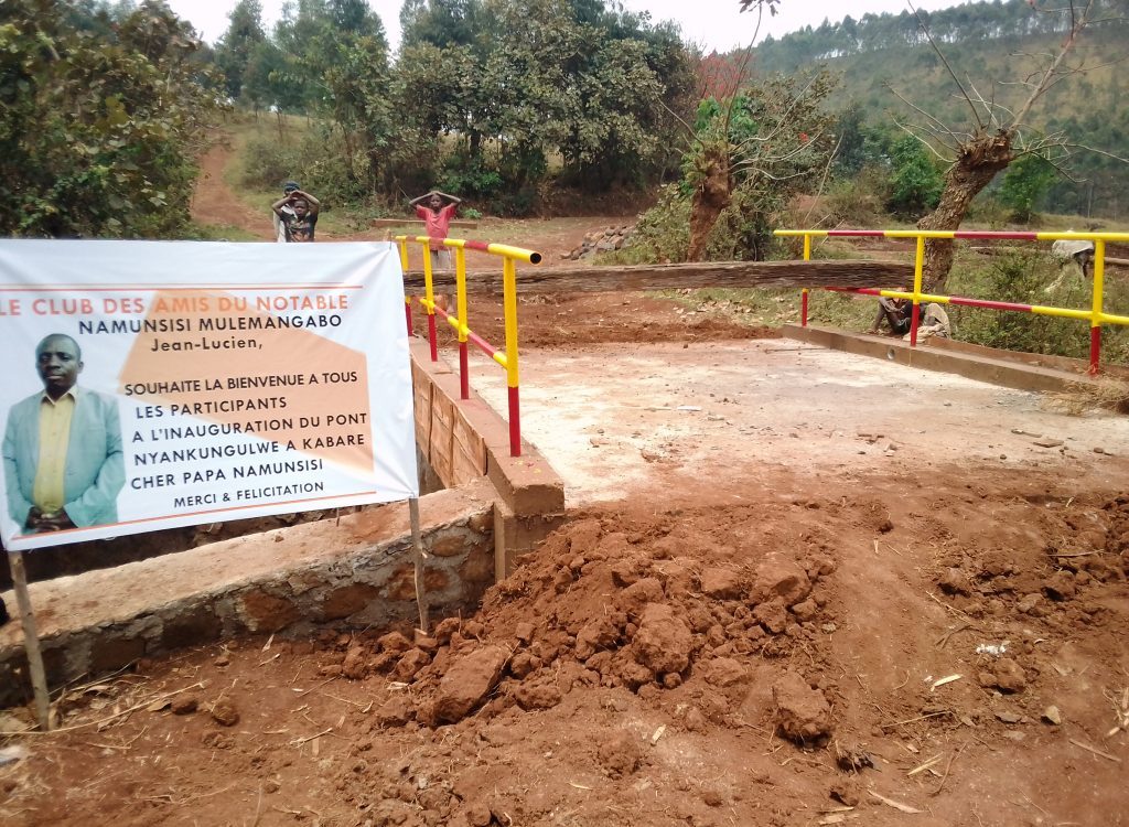
[[[437,290],[455,286],[453,272],[437,272]],[[534,293],[613,293],[667,290],[684,287],[887,287],[913,284],[913,265],[899,261],[725,261],[631,267],[542,268],[518,264],[517,289]],[[423,273],[404,273],[404,288],[423,289]],[[501,294],[501,264],[497,271],[469,272],[466,289]]]

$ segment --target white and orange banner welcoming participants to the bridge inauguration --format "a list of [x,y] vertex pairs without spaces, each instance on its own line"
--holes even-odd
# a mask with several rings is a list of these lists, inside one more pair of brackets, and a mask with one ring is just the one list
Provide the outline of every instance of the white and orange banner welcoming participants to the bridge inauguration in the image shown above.
[[388,243],[0,241],[9,549],[419,495]]

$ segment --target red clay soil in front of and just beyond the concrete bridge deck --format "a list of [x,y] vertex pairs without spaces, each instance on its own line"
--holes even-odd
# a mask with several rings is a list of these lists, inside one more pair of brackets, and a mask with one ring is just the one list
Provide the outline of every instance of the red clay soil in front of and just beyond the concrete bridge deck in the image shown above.
[[[691,327],[636,296],[523,313],[566,347]],[[706,469],[624,491],[429,635],[239,639],[73,688],[56,733],[7,742],[0,822],[1129,824],[1123,484],[730,462],[741,505]]]

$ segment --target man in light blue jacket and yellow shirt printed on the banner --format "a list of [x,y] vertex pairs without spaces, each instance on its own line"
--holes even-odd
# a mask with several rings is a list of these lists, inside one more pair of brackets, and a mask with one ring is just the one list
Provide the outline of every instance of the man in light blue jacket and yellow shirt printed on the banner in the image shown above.
[[125,484],[114,399],[79,388],[82,351],[52,333],[35,349],[43,392],[12,406],[3,436],[8,513],[23,533],[117,522]]

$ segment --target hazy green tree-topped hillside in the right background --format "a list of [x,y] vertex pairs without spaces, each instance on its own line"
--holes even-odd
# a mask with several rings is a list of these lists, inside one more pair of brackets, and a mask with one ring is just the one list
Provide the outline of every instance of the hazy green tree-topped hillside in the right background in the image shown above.
[[[1061,131],[1074,145],[1068,168],[1076,180],[1061,174],[1045,209],[1115,219],[1126,211],[1121,193],[1129,185],[1129,165],[1084,149],[1129,158],[1122,77],[1129,21],[1123,3],[1103,6],[1099,14],[1108,19],[1087,29],[1070,55],[1070,67],[1082,71],[1048,90],[1031,113],[1029,134]],[[908,11],[859,20],[848,16],[768,38],[753,51],[753,72],[794,73],[822,63],[842,78],[839,102],[857,103],[872,124],[894,119],[920,124],[929,116],[962,132],[972,120],[954,75],[973,98],[979,93],[1004,111],[1014,110],[1027,94],[1024,81],[1045,68],[1066,32],[1065,18],[1038,14],[1026,0],[966,3],[921,18],[936,50]],[[733,63],[739,59],[727,55]]]

